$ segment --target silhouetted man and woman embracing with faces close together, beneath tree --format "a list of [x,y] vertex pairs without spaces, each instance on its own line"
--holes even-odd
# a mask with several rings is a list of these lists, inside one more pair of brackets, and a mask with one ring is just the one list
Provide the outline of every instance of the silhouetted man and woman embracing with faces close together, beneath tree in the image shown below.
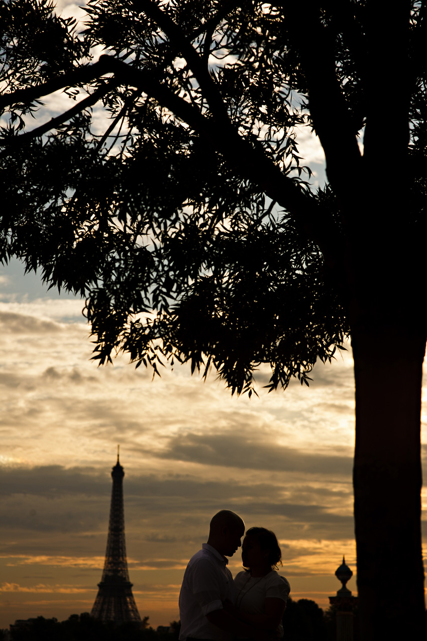
[[[221,510],[209,538],[191,557],[179,594],[180,641],[278,640],[291,590],[276,570],[282,554],[274,532],[250,528],[236,513]],[[244,570],[233,580],[227,556],[242,548]]]

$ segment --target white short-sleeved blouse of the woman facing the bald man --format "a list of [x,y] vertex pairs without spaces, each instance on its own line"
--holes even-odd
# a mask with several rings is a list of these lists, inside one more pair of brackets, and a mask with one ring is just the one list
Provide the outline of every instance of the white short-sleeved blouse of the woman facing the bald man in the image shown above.
[[[250,576],[250,572],[239,572],[234,577],[235,605],[238,610],[246,614],[264,614],[265,601],[271,597],[282,599],[285,603],[291,586],[289,581],[272,570],[265,576]],[[283,635],[282,626],[279,627]]]

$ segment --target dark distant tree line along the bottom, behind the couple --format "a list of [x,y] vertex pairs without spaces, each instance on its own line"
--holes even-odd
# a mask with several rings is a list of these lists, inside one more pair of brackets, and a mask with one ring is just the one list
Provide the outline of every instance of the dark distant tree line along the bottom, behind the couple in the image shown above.
[[[283,617],[284,641],[335,641],[335,609],[323,612],[310,599],[288,599]],[[154,629],[149,617],[140,627],[133,623],[116,625],[93,619],[87,612],[72,614],[66,621],[37,617],[28,624],[0,631],[0,641],[178,641],[181,624],[172,621],[170,628]],[[359,641],[357,615],[354,641]]]

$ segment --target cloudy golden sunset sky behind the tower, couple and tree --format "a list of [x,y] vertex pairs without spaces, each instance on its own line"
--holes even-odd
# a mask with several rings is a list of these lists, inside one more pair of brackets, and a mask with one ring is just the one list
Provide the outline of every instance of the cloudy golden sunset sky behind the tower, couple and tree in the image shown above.
[[[58,10],[83,15],[66,2]],[[63,104],[59,94],[48,101],[45,120]],[[321,148],[309,131],[301,138],[321,182]],[[248,528],[273,529],[291,597],[326,608],[341,587],[334,572],[343,554],[355,572],[350,345],[334,363],[316,365],[309,388],[293,381],[267,394],[265,367],[259,398],[238,398],[215,372],[203,383],[188,367],[152,380],[127,358],[98,368],[82,308],[80,299],[48,292],[35,274],[24,276],[19,262],[0,266],[0,628],[92,608],[117,444],[141,617],[153,626],[178,619],[186,563],[222,508]],[[386,349],[378,337],[373,359]],[[424,456],[425,417],[424,407]],[[230,569],[241,569],[239,553]],[[355,576],[348,587],[357,594]]]

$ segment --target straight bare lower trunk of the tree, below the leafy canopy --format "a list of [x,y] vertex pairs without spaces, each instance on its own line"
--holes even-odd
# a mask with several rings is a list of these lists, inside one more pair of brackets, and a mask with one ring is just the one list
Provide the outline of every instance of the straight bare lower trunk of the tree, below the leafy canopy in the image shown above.
[[353,324],[351,334],[362,641],[426,639],[420,444],[426,337],[414,325],[396,325],[369,327],[365,317],[362,324]]

